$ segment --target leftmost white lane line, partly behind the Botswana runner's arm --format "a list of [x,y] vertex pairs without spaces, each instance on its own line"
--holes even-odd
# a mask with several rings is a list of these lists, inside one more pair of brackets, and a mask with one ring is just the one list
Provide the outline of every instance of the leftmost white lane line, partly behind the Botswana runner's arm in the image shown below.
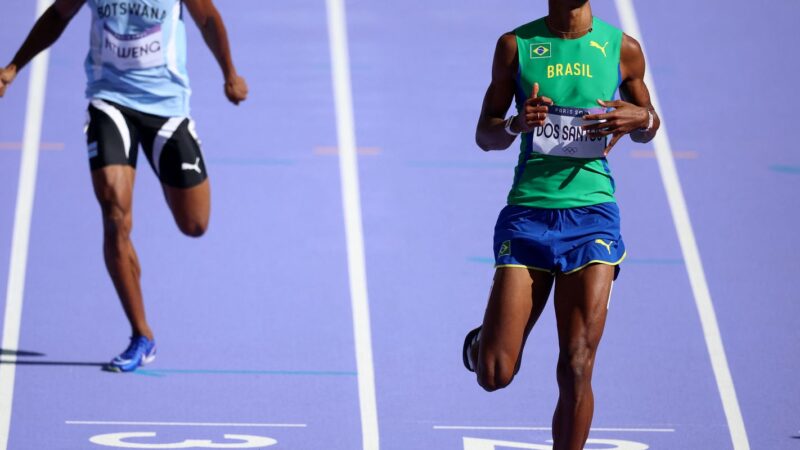
[[[36,17],[41,16],[52,3],[38,0]],[[47,62],[49,53],[44,51],[31,63],[28,85],[28,104],[25,112],[25,131],[22,137],[22,155],[17,186],[17,204],[14,211],[14,230],[11,237],[11,259],[8,264],[6,286],[6,310],[3,316],[3,350],[19,348],[19,329],[22,321],[22,298],[25,289],[25,269],[28,264],[28,240],[33,214],[33,197],[36,190],[36,167],[39,163],[39,140],[42,134],[44,92],[47,87]],[[8,447],[11,429],[11,408],[14,402],[14,378],[17,360],[15,354],[5,355],[0,364],[0,448]]]

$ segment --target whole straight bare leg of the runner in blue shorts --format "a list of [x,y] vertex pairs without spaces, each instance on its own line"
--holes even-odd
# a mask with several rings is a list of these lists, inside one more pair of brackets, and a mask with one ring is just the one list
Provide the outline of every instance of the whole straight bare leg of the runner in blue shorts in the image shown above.
[[556,278],[558,404],[553,414],[553,449],[579,450],[594,414],[592,369],[605,327],[614,267],[593,264]]

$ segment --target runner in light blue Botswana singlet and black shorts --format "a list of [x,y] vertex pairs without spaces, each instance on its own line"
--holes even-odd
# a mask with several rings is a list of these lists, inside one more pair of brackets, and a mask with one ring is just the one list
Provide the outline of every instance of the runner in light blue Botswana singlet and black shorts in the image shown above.
[[19,70],[55,43],[84,4],[92,14],[85,63],[89,168],[103,216],[106,268],[131,325],[130,344],[106,369],[129,372],[156,354],[130,237],[139,148],[184,234],[203,235],[211,208],[200,140],[189,118],[184,6],[222,69],[231,103],[245,100],[247,83],[233,65],[225,24],[212,0],[55,0],[11,63],[0,68],[0,97]]

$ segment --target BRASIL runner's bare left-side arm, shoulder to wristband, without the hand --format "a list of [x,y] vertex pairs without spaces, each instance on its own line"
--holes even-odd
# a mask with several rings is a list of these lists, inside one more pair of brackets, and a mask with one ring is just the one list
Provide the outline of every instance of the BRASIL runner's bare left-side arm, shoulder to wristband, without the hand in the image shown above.
[[[505,116],[514,99],[517,67],[517,39],[506,33],[497,41],[492,62],[492,81],[483,98],[475,142],[484,151],[505,150],[516,139],[505,131]],[[514,132],[519,128],[512,125]]]

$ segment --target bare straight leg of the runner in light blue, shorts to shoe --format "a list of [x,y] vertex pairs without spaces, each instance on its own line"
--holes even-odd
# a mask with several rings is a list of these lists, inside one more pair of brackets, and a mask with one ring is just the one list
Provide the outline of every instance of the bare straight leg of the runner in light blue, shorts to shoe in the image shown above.
[[127,165],[111,165],[92,171],[95,196],[103,214],[103,256],[134,336],[153,339],[145,318],[141,268],[130,239],[133,181],[136,171]]

